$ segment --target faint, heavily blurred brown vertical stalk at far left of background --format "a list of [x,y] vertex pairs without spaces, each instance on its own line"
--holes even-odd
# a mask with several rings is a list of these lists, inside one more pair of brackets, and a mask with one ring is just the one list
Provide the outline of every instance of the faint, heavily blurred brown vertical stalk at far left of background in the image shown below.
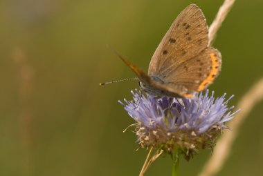
[[17,66],[17,78],[19,81],[19,130],[22,142],[22,175],[33,175],[32,146],[33,146],[33,113],[31,95],[33,87],[33,71],[21,48],[12,50],[12,59]]

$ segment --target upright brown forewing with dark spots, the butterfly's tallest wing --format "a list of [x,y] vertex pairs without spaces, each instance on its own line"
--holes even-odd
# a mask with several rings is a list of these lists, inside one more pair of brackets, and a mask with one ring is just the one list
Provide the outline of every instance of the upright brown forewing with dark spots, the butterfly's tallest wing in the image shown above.
[[172,23],[149,63],[148,73],[165,80],[181,63],[208,46],[208,26],[203,12],[190,5]]

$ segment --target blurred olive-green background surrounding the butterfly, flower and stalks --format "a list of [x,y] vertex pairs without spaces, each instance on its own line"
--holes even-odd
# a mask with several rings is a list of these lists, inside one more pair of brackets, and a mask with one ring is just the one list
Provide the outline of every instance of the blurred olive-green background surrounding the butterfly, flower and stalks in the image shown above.
[[[118,104],[136,81],[101,87],[134,74],[106,45],[147,70],[176,16],[190,3],[208,24],[223,1],[0,1],[0,175],[138,175],[147,152],[135,151],[134,121]],[[263,76],[263,1],[236,1],[214,43],[223,67],[216,95],[237,104]],[[218,175],[262,175],[263,103],[246,119]],[[230,132],[226,132],[230,133]],[[205,150],[181,162],[197,175]],[[170,157],[146,175],[170,175]]]

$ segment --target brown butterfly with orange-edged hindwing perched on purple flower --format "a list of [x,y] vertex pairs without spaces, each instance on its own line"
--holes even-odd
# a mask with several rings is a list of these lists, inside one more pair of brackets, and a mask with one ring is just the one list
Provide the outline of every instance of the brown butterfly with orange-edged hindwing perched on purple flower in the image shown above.
[[192,97],[221,70],[220,52],[208,45],[208,25],[199,7],[186,7],[154,52],[148,73],[119,56],[135,72],[143,92],[156,97]]

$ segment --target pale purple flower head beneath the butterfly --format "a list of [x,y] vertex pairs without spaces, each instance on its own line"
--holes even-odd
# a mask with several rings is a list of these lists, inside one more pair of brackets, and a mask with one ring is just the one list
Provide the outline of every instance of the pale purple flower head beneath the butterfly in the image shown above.
[[194,94],[192,99],[174,97],[154,98],[152,95],[139,96],[134,93],[134,101],[124,99],[125,110],[136,122],[136,135],[141,148],[162,147],[167,152],[175,146],[180,148],[186,159],[190,159],[202,148],[215,146],[215,139],[227,128],[224,122],[233,119],[228,107],[226,94],[215,99],[214,92]]

